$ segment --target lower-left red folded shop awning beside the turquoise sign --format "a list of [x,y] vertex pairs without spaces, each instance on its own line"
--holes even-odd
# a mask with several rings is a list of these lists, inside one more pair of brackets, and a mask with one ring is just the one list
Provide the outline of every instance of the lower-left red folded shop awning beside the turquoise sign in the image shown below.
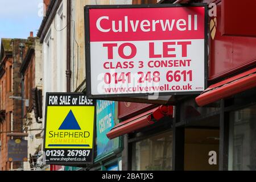
[[121,135],[131,133],[135,130],[142,129],[148,125],[152,125],[159,119],[166,115],[173,114],[173,106],[159,106],[155,109],[146,111],[145,113],[139,114],[133,118],[127,119],[124,122],[119,123],[112,130],[109,131],[107,137],[109,139],[117,138]]

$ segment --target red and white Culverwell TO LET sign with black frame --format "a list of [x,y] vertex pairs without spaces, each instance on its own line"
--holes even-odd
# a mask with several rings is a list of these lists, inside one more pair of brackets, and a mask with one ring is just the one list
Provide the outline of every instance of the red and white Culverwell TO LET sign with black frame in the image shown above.
[[88,96],[200,93],[207,81],[207,6],[86,6]]

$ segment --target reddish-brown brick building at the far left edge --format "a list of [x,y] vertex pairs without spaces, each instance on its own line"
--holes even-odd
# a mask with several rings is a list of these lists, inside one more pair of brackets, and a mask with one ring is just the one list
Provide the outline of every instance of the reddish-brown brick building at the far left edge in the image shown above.
[[[1,123],[1,129],[3,133],[0,135],[2,141],[1,156],[0,156],[0,170],[11,169],[11,163],[8,162],[8,140],[11,137],[7,137],[6,133],[11,131],[11,117],[13,115],[13,131],[22,131],[22,101],[9,98],[10,96],[21,96],[22,80],[19,73],[20,65],[22,63],[20,57],[19,44],[23,43],[26,48],[23,50],[23,55],[27,51],[27,40],[25,39],[13,39],[13,53],[12,57],[9,57],[3,61],[5,64],[3,69],[5,73],[0,78],[0,105],[1,110],[5,110],[5,121]],[[15,139],[15,138],[14,138]],[[20,168],[20,162],[13,162],[13,169]]]

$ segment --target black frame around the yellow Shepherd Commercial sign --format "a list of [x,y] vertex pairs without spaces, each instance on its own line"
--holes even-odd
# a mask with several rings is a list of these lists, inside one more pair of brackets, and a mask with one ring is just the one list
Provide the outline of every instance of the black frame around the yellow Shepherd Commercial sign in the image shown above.
[[[45,109],[45,113],[44,113],[44,142],[43,142],[43,151],[46,151],[46,127],[47,127],[47,107],[48,107],[48,96],[49,95],[85,95],[84,93],[80,93],[80,92],[46,92],[46,109]],[[90,98],[92,99],[92,98]],[[67,106],[67,105],[66,105]],[[89,106],[89,105],[88,105]],[[96,100],[93,100],[93,105],[94,106],[94,122],[93,122],[93,146],[92,146],[92,162],[46,162],[47,165],[63,165],[63,166],[68,166],[68,165],[82,165],[82,164],[93,164],[94,163],[94,137],[95,137],[95,131],[96,131]],[[54,149],[54,148],[52,148]],[[57,148],[58,150],[61,148]],[[73,148],[71,148],[73,149]],[[43,154],[44,155],[44,154]],[[44,159],[44,158],[43,158]]]

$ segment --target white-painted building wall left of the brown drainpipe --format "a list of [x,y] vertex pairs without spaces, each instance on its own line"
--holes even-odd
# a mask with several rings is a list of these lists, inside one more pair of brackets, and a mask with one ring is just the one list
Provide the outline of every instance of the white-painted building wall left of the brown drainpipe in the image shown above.
[[[67,0],[44,1],[46,16],[39,28],[38,37],[42,44],[42,100],[44,126],[45,100],[47,92],[67,92]],[[69,52],[69,51],[68,51]],[[40,137],[44,137],[43,133]],[[59,167],[51,166],[49,169]],[[60,167],[62,169],[62,167]]]

